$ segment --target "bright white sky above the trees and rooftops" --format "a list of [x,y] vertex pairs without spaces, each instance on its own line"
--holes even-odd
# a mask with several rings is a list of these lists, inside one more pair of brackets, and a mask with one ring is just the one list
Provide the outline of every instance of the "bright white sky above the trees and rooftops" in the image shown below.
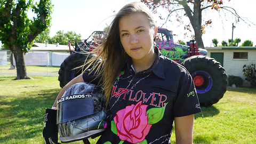
[[[106,25],[109,25],[113,19],[115,12],[118,12],[125,4],[139,1],[139,0],[53,0],[52,4],[52,24],[50,28],[50,37],[53,37],[57,31],[63,30],[75,31],[77,34],[82,35],[82,39],[89,37],[95,30],[103,30]],[[231,0],[225,3],[226,6],[233,7],[237,14],[249,19],[256,25],[255,5],[256,1],[244,0],[243,3],[239,0]],[[165,11],[158,11],[158,13],[166,13]],[[155,19],[158,16],[155,15]],[[174,18],[171,18],[174,19]],[[217,11],[206,10],[203,12],[203,19],[212,19],[211,27],[206,28],[206,33],[203,35],[204,46],[213,46],[212,39],[217,38],[218,45],[221,45],[221,41],[232,37],[232,23],[236,27],[234,29],[233,38],[241,38],[241,44],[246,39],[250,39],[253,42],[253,46],[256,45],[256,26],[248,26],[242,20],[236,22],[235,17],[229,13],[218,13]],[[183,17],[186,24],[189,23],[187,17]],[[174,20],[175,21],[175,20]],[[160,23],[157,23],[159,26]],[[188,32],[184,31],[184,25],[177,26],[177,23],[170,22],[163,26],[173,31],[173,34],[178,36],[173,37],[174,42],[179,39],[182,41],[189,41],[189,37],[184,37],[183,34]],[[191,33],[188,35],[190,36]],[[240,45],[240,44],[239,44]]]

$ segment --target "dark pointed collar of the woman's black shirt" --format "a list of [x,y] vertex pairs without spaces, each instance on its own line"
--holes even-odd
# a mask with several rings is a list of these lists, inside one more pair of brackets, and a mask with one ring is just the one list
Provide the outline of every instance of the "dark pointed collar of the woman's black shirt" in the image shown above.
[[[143,72],[151,72],[152,71],[159,78],[165,79],[163,55],[156,46],[155,46],[155,52],[157,53],[156,60],[154,61],[153,65],[149,69],[147,69]],[[128,68],[131,69],[132,60],[131,60],[131,57],[129,55],[127,55],[125,63],[127,63]]]

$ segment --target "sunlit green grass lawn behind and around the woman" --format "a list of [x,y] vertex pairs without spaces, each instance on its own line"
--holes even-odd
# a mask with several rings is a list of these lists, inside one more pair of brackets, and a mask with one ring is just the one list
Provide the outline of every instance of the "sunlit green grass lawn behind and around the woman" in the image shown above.
[[[44,143],[45,109],[51,108],[61,88],[58,76],[33,78],[19,81],[13,81],[14,77],[0,78],[0,143]],[[203,107],[202,113],[195,115],[193,141],[256,143],[255,115],[256,89],[228,88],[218,103]],[[171,141],[175,143],[174,133]]]

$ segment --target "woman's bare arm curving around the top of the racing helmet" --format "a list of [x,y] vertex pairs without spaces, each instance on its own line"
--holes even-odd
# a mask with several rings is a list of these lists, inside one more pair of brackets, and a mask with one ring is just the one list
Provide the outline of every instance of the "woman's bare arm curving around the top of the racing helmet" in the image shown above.
[[83,79],[83,73],[80,74],[79,76],[75,77],[74,79],[72,79],[70,82],[68,82],[59,92],[57,98],[55,99],[54,103],[53,103],[53,107],[57,107],[57,101],[58,99],[60,99],[62,97],[62,95],[64,94],[64,92],[68,89],[69,86],[76,84],[76,83],[82,83],[84,82]]

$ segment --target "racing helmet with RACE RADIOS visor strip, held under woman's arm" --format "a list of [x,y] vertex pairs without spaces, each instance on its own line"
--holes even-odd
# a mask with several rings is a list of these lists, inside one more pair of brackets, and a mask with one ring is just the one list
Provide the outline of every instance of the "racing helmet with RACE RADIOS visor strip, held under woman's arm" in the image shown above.
[[77,83],[57,101],[57,125],[62,143],[98,137],[106,128],[105,97],[100,86]]

